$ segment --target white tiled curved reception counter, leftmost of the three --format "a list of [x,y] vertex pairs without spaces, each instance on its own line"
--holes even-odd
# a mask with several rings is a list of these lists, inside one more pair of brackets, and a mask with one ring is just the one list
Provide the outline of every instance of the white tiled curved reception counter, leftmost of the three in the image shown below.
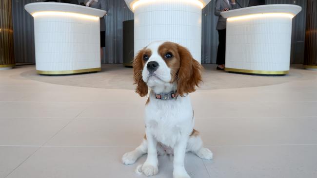
[[90,7],[36,2],[25,5],[34,17],[36,70],[60,75],[100,71],[100,17]]

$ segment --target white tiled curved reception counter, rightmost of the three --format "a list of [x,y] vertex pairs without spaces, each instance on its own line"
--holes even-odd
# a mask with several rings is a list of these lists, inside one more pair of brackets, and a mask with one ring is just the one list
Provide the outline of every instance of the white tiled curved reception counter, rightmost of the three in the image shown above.
[[300,11],[297,5],[273,4],[221,12],[227,18],[225,71],[287,74],[292,18]]

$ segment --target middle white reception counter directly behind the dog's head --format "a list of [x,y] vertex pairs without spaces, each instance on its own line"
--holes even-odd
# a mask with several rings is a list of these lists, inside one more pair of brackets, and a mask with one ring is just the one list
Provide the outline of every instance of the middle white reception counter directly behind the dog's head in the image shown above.
[[134,13],[134,53],[152,41],[185,46],[201,60],[201,9],[210,0],[125,0]]

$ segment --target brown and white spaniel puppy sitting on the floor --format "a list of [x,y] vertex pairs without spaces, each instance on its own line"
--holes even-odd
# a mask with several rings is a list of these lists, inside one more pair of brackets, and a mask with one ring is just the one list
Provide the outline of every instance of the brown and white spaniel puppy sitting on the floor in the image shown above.
[[186,152],[211,160],[195,130],[194,110],[188,93],[202,81],[202,66],[191,53],[177,43],[155,41],[139,51],[134,59],[136,93],[148,94],[145,106],[145,136],[134,150],[122,156],[124,164],[133,164],[143,154],[140,167],[146,176],[158,174],[158,155],[173,154],[173,177],[190,178],[184,167]]

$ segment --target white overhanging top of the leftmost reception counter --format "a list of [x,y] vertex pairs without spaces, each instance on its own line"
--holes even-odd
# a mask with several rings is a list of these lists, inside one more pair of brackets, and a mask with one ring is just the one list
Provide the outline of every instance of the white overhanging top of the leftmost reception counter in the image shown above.
[[106,11],[104,10],[86,7],[82,5],[60,3],[60,2],[34,2],[34,3],[26,4],[24,8],[31,15],[35,12],[58,11],[58,12],[71,12],[71,13],[90,15],[90,16],[98,16],[102,18],[106,14]]

